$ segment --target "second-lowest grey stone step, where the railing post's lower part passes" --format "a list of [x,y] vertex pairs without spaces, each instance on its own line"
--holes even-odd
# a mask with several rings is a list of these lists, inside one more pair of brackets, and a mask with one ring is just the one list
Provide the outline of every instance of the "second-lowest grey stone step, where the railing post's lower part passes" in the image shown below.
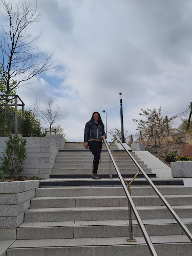
[[[182,235],[183,231],[173,219],[144,220],[149,236]],[[185,219],[192,231],[192,219]],[[158,225],[158,228],[157,228]],[[136,220],[133,220],[134,236],[142,236]],[[16,239],[63,239],[63,238],[113,238],[129,236],[129,220],[115,221],[64,221],[25,222],[17,228]]]

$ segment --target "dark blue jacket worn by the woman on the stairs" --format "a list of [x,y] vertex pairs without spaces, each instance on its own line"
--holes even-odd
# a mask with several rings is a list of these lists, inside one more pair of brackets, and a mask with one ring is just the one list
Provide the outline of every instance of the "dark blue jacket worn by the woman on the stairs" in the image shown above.
[[87,122],[84,127],[84,142],[88,142],[90,139],[101,139],[101,136],[105,136],[104,125],[101,123]]

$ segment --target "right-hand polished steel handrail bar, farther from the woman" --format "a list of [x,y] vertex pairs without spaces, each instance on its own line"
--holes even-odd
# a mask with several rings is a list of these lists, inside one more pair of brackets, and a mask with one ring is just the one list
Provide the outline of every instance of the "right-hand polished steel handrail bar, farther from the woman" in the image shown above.
[[183,231],[185,232],[186,236],[188,237],[188,239],[192,242],[192,234],[191,232],[188,230],[188,228],[185,226],[185,224],[182,222],[182,220],[179,218],[179,216],[176,214],[176,212],[174,211],[174,209],[172,208],[172,206],[170,206],[170,204],[166,201],[166,199],[163,197],[163,195],[160,193],[159,189],[157,189],[157,187],[155,186],[155,184],[151,181],[150,178],[148,178],[148,176],[145,174],[144,170],[141,168],[141,166],[137,163],[137,161],[134,159],[134,157],[131,155],[131,153],[124,147],[123,143],[121,142],[121,140],[119,138],[116,138],[116,140],[118,140],[120,142],[120,144],[123,146],[124,150],[126,151],[127,154],[129,154],[129,156],[131,157],[131,159],[133,160],[133,162],[136,164],[136,166],[139,168],[140,172],[143,174],[143,176],[145,177],[145,179],[148,181],[148,183],[153,187],[153,189],[155,190],[156,194],[159,196],[159,198],[162,200],[162,202],[164,203],[164,205],[166,206],[166,208],[170,211],[170,214],[172,214],[172,216],[174,217],[174,219],[177,221],[177,223],[180,225],[180,227],[183,229]]

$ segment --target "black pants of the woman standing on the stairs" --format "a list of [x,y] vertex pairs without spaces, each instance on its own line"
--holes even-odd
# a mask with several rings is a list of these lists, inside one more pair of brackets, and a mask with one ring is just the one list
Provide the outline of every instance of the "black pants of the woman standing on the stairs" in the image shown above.
[[96,174],[101,156],[102,141],[91,140],[88,141],[88,145],[89,150],[93,154],[93,174]]

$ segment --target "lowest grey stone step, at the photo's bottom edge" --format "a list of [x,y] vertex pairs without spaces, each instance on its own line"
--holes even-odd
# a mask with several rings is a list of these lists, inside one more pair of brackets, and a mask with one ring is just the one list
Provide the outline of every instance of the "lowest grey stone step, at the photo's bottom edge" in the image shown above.
[[[16,240],[7,250],[7,256],[149,256],[150,251],[143,237],[135,237],[129,243],[127,237],[84,239],[36,239]],[[191,256],[192,244],[185,235],[152,236],[158,256]]]

